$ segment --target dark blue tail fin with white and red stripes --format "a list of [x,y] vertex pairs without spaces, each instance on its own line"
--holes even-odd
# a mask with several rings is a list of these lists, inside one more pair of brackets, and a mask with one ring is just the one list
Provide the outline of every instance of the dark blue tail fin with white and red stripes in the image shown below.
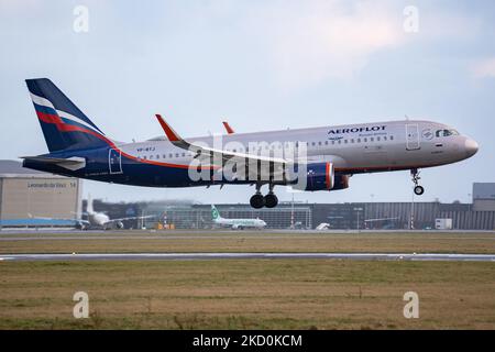
[[50,79],[26,79],[50,152],[94,148],[109,140]]

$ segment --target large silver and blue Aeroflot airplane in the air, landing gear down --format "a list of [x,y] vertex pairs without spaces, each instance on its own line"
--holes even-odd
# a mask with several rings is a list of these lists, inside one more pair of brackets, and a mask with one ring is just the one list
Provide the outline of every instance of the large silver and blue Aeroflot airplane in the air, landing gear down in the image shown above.
[[410,170],[419,196],[421,168],[457,163],[479,150],[449,125],[409,119],[232,133],[218,143],[215,135],[185,140],[156,114],[165,135],[123,143],[106,136],[50,79],[26,85],[50,153],[22,156],[24,167],[146,187],[254,185],[255,209],[277,206],[275,186],[332,191],[349,188],[354,174],[378,172]]

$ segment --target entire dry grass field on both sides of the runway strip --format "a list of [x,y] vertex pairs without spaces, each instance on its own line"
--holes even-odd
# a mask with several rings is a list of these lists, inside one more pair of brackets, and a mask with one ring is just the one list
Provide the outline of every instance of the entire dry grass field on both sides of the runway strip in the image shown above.
[[[45,234],[46,235],[46,234]],[[58,237],[59,234],[54,234]],[[9,235],[10,237],[10,235]],[[494,234],[150,234],[10,241],[41,252],[495,253]],[[11,235],[22,237],[22,235]],[[41,235],[42,237],[42,235]],[[96,237],[96,235],[95,235]],[[108,237],[108,235],[106,235]],[[187,234],[185,235],[187,237]],[[73,317],[89,295],[90,318]],[[406,319],[406,292],[419,319]],[[0,329],[495,329],[495,263],[336,260],[0,262]]]

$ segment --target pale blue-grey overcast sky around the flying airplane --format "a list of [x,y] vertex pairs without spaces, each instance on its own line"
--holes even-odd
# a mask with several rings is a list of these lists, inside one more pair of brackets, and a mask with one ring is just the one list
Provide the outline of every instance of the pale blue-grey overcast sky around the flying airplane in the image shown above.
[[[77,6],[88,32],[76,32]],[[417,32],[404,14],[418,10]],[[410,12],[406,11],[408,14]],[[76,22],[76,28],[80,22]],[[409,25],[409,26],[408,26]],[[475,139],[471,160],[424,169],[425,201],[495,182],[495,2],[0,0],[0,158],[46,153],[25,78],[51,78],[110,138],[186,136],[427,118]],[[108,200],[246,202],[249,186],[84,182]],[[280,200],[292,194],[278,188]],[[409,201],[408,172],[359,175],[310,202]]]

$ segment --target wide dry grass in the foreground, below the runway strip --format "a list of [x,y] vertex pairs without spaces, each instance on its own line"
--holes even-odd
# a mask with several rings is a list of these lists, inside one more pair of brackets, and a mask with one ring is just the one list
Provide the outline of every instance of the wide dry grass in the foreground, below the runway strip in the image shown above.
[[[2,329],[494,329],[495,263],[0,262]],[[74,319],[75,292],[90,319]],[[420,318],[403,317],[403,295]]]

